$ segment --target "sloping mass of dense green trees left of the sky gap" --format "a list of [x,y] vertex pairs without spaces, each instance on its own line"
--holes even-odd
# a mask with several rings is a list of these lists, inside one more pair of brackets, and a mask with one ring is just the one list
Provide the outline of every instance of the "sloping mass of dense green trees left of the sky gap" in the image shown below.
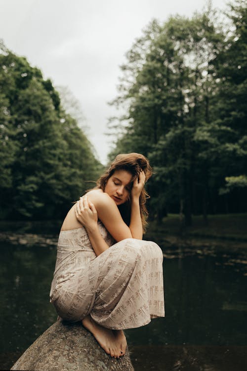
[[61,218],[100,164],[41,71],[0,45],[0,218]]

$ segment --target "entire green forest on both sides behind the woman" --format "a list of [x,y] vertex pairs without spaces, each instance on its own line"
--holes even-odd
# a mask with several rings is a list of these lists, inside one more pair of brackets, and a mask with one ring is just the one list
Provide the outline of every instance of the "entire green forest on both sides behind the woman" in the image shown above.
[[[126,52],[108,135],[154,175],[151,219],[247,212],[247,3],[152,20]],[[62,219],[102,171],[51,80],[0,44],[0,219]]]

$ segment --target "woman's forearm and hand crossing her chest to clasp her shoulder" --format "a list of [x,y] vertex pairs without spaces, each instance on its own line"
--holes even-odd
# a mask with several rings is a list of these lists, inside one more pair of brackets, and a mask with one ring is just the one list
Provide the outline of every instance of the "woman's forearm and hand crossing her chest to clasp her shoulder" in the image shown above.
[[75,210],[77,219],[86,229],[95,254],[100,255],[109,246],[99,231],[97,210],[90,201],[88,202],[86,195],[80,197]]

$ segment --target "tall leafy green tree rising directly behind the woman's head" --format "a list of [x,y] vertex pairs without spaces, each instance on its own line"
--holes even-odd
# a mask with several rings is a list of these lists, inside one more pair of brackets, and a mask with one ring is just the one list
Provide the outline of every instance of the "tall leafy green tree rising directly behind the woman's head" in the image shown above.
[[127,124],[116,148],[139,151],[154,165],[149,190],[158,195],[153,197],[157,217],[177,204],[188,225],[202,193],[199,211],[204,209],[206,219],[210,161],[200,159],[199,133],[214,117],[212,61],[223,44],[214,19],[209,8],[192,19],[171,17],[163,26],[152,22],[127,53],[129,67],[122,67],[125,76],[113,102],[124,102],[128,113],[121,118]]

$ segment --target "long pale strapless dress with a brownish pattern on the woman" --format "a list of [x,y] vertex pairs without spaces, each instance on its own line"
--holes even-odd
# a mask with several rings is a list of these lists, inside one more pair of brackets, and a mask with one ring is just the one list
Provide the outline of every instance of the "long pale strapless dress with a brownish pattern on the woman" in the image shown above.
[[165,317],[161,248],[134,238],[114,243],[101,222],[98,227],[110,246],[99,256],[83,227],[60,232],[50,290],[58,315],[77,322],[90,314],[111,329],[139,327]]

